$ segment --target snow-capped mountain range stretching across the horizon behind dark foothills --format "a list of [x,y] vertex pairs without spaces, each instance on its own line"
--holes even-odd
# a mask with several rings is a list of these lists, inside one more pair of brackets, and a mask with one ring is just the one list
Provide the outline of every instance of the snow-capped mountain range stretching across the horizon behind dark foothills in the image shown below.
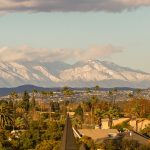
[[0,62],[0,87],[33,84],[42,87],[150,87],[150,74],[112,62]]

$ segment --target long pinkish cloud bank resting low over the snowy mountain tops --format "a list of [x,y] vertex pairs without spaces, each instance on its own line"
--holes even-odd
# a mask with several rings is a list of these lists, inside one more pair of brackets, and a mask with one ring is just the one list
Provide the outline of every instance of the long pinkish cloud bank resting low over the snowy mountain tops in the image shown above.
[[[84,49],[44,49],[22,46],[18,48],[1,47],[1,61],[86,61],[110,57],[122,52],[120,47],[103,45]],[[8,57],[9,56],[9,57]]]

